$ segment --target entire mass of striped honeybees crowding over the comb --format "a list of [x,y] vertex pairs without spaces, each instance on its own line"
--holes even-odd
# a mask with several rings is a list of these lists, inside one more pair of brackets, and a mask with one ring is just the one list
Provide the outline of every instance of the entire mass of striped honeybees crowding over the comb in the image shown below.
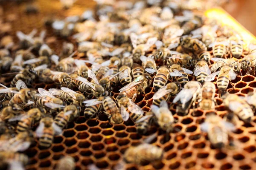
[[[11,48],[14,42],[2,38],[6,41],[0,49],[1,73],[13,79],[9,88],[0,84],[0,167],[26,165],[28,157],[19,152],[35,138],[40,147],[50,147],[54,136],[79,116],[91,119],[102,113],[110,124],[130,119],[140,134],[151,125],[172,133],[177,130],[174,114],[186,116],[195,107],[215,109],[216,87],[229,114],[224,119],[210,115],[201,124],[214,147],[229,144],[229,132],[239,119],[251,121],[256,94],[242,98],[227,88],[242,72],[255,69],[256,44],[245,51],[238,32],[193,13],[194,8],[178,0],[97,0],[96,8],[46,21],[58,36],[77,32],[72,36],[77,51],[76,45],[64,42],[61,57],[44,41],[46,31],[38,37],[36,30],[18,31],[16,51]],[[57,88],[34,89],[35,82]],[[151,110],[145,112],[135,102],[151,87]],[[113,91],[119,93],[114,97]],[[176,113],[170,110],[174,105]],[[124,153],[126,162],[136,164],[162,157],[163,148],[148,142]],[[57,169],[74,167],[74,159],[64,157]]]

